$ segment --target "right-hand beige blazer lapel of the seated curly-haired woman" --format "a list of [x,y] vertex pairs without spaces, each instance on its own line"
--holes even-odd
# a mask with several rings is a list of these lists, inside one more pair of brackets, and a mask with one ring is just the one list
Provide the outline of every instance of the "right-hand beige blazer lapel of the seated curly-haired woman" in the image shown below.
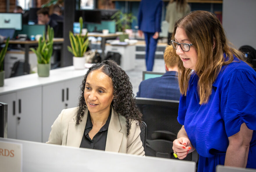
[[105,151],[118,152],[122,143],[123,133],[119,132],[122,129],[119,116],[114,111],[113,107],[111,108],[112,113],[109,122]]

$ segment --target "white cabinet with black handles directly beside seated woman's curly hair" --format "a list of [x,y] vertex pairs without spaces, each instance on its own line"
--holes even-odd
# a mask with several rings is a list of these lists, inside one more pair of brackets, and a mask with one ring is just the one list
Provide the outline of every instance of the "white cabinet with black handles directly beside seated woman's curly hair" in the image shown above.
[[78,106],[82,80],[83,76],[42,87],[42,142],[48,141],[51,125],[61,113],[61,110]]

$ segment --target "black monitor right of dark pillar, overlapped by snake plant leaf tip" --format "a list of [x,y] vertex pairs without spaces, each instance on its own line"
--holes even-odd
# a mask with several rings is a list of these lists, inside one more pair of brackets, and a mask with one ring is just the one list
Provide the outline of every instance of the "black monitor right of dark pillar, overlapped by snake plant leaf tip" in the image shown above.
[[85,23],[101,23],[100,10],[77,10],[75,12],[75,22],[79,22],[79,17],[83,17]]

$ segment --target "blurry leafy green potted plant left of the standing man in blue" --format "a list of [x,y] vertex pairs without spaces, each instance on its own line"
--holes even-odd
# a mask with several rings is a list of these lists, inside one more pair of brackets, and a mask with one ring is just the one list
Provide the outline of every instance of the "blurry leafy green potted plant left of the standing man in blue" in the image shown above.
[[116,30],[121,32],[122,34],[119,35],[120,42],[124,42],[125,39],[128,39],[128,34],[125,34],[125,30],[131,29],[131,23],[134,20],[137,20],[132,13],[122,13],[121,11],[116,12],[111,19],[115,19]]

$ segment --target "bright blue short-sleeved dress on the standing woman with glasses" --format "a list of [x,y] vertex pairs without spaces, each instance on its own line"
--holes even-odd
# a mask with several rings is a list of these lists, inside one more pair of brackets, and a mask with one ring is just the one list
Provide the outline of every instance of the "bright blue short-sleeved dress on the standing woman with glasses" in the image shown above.
[[216,165],[224,165],[228,137],[239,132],[242,123],[253,130],[246,168],[256,169],[256,72],[238,58],[234,61],[222,67],[207,104],[199,105],[195,73],[187,96],[179,100],[177,119],[199,154],[200,172],[215,172]]

